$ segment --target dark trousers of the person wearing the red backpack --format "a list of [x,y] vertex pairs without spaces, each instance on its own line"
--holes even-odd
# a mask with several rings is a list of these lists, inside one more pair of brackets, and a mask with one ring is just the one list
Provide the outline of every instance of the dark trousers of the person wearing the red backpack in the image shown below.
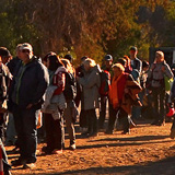
[[101,95],[101,110],[100,110],[100,118],[98,118],[98,128],[104,128],[105,117],[106,117],[106,104],[107,104],[107,96]]

